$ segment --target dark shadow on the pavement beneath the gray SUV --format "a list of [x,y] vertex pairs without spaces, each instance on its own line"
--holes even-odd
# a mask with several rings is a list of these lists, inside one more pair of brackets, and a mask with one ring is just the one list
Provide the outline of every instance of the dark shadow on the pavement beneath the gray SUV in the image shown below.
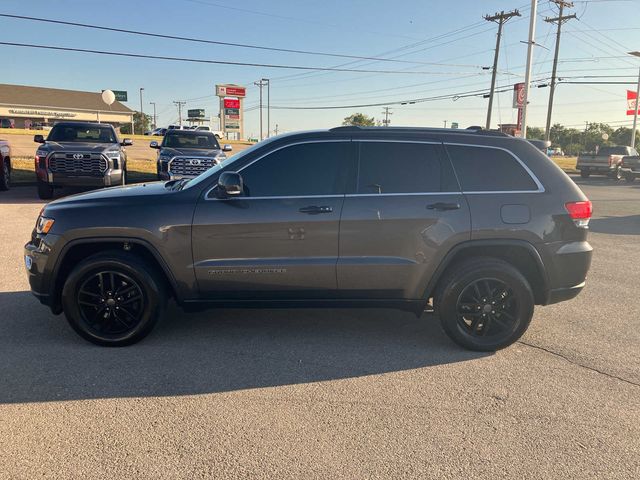
[[0,404],[194,395],[376,375],[481,358],[437,318],[382,309],[212,310],[141,343],[87,343],[29,292],[0,293]]

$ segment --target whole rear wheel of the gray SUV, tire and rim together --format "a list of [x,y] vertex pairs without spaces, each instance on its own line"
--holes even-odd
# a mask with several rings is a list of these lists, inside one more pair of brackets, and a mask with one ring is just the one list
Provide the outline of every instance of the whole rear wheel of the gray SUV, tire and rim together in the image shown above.
[[531,286],[505,261],[490,257],[464,261],[440,285],[435,298],[440,324],[464,348],[492,352],[508,347],[531,322]]

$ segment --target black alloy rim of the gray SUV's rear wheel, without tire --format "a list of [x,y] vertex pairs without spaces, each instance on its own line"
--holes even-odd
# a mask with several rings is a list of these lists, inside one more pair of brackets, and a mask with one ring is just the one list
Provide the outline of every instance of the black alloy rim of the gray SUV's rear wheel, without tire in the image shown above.
[[468,335],[502,338],[517,326],[518,299],[496,278],[471,282],[458,297],[458,326]]

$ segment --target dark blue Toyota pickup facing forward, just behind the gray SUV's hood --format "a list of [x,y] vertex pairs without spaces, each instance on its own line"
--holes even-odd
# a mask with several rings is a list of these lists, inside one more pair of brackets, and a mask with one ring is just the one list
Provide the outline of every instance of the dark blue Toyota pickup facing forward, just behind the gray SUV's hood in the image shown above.
[[223,162],[231,145],[220,148],[215,135],[197,130],[168,130],[162,143],[151,142],[158,149],[158,180],[193,178]]

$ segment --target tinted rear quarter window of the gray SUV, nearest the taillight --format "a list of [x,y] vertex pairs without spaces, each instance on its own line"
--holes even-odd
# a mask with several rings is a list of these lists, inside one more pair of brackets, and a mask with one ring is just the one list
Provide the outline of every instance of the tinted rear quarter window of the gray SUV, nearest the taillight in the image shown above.
[[503,192],[538,189],[522,165],[504,150],[447,145],[447,151],[463,191]]

